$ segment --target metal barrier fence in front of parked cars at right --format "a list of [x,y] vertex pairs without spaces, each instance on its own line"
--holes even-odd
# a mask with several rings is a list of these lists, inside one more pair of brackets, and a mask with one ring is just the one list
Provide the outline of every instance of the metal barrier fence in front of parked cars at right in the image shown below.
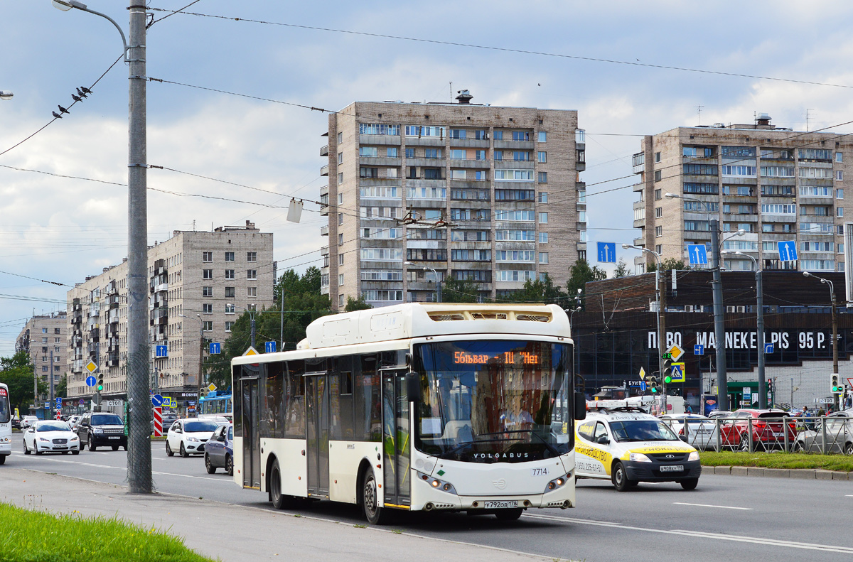
[[[838,416],[676,418],[664,420],[699,450],[853,455],[853,418]],[[685,423],[686,422],[686,423]]]

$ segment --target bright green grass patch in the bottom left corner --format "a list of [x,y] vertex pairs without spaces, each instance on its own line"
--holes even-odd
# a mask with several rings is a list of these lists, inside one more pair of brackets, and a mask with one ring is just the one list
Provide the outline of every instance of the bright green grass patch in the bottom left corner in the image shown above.
[[2,562],[212,562],[177,536],[119,519],[54,515],[0,502]]

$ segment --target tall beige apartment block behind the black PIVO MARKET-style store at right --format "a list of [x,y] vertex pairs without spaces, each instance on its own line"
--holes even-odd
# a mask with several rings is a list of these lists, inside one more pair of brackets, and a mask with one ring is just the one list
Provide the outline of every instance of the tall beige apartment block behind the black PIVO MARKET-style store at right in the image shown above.
[[[634,154],[634,242],[661,257],[688,261],[685,246],[710,251],[709,218],[717,217],[724,250],[761,260],[763,269],[844,270],[844,197],[850,136],[770,125],[678,127],[646,136]],[[667,198],[666,194],[682,198]],[[701,203],[696,201],[700,200]],[[738,235],[739,230],[742,235]],[[796,240],[798,262],[780,262],[777,243]],[[652,257],[635,258],[643,269]],[[726,269],[752,269],[746,256],[724,255]]]

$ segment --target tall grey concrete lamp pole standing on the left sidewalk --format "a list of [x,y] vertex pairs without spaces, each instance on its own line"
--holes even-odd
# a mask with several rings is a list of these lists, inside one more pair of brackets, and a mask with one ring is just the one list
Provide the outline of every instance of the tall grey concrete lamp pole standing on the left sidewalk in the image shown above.
[[148,154],[146,145],[145,3],[130,0],[127,171],[127,483],[131,494],[150,494],[151,420],[148,359]]

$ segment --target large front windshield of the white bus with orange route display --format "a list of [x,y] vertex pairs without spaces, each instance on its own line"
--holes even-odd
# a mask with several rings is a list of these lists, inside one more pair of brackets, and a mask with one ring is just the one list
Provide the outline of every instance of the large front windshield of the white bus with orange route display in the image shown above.
[[415,345],[415,446],[442,459],[524,462],[572,447],[569,346],[527,340]]

